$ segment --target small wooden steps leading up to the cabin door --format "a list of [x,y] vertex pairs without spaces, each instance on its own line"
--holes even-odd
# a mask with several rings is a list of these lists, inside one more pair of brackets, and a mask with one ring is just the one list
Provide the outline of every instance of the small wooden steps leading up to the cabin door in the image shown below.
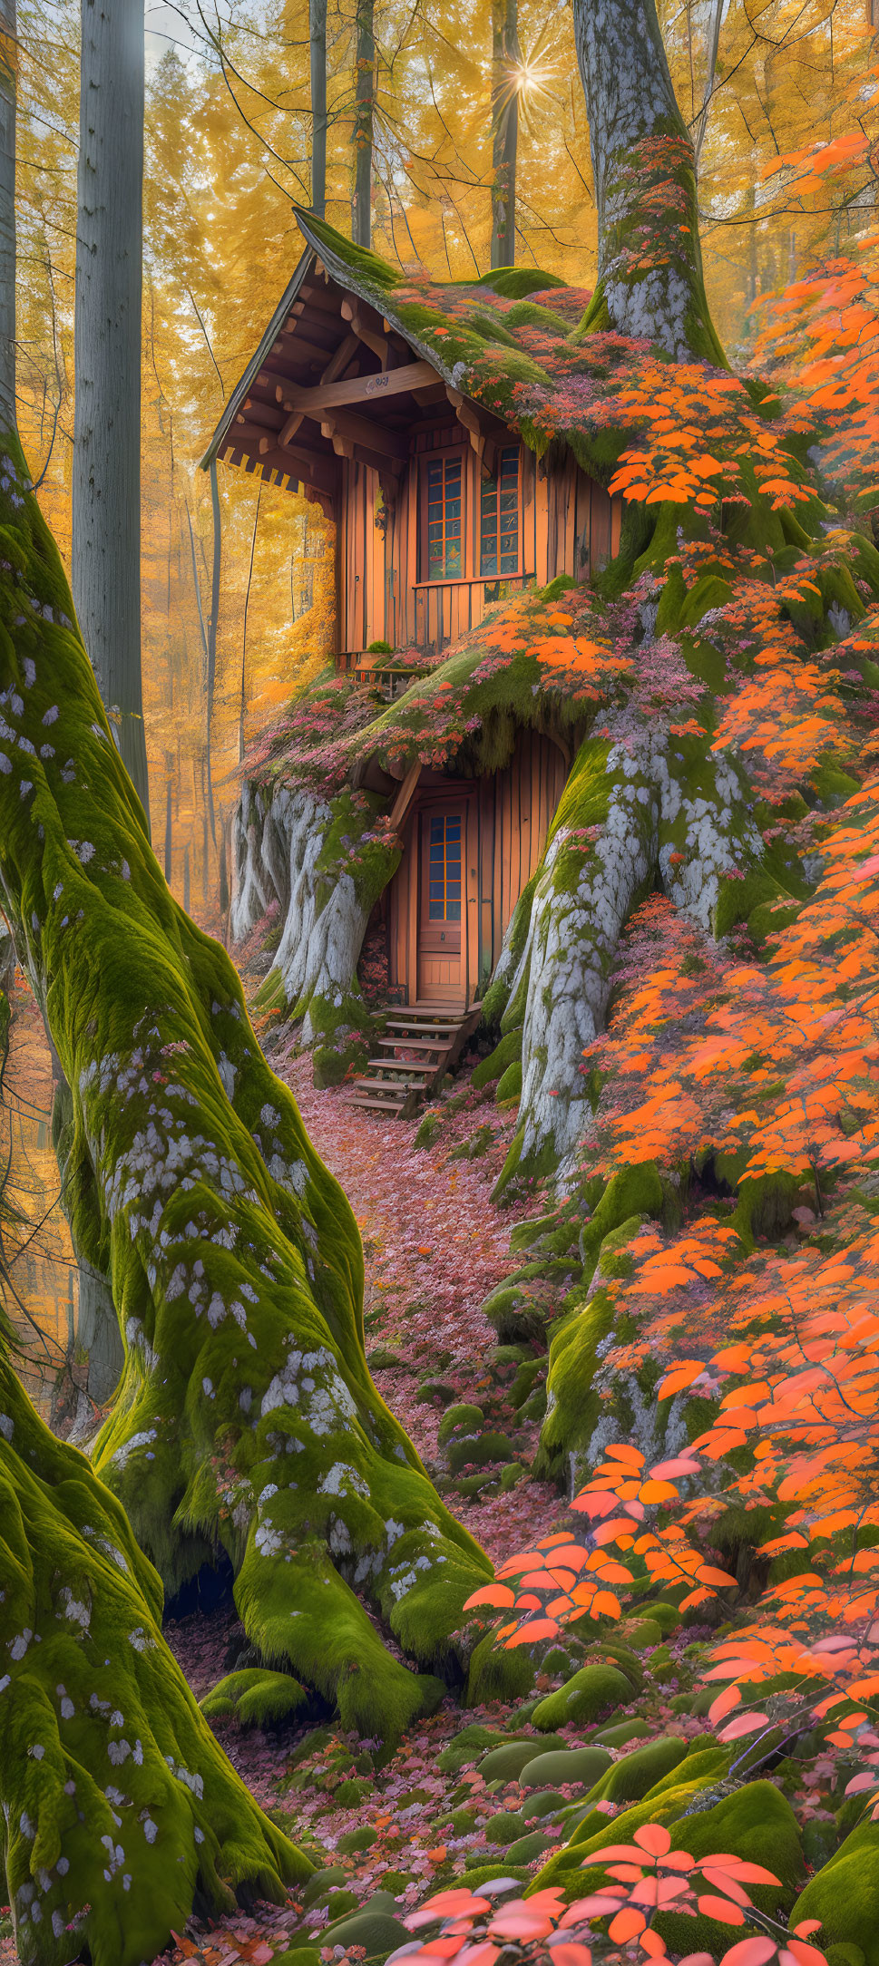
[[389,1119],[411,1119],[425,1093],[460,1056],[480,1016],[480,1005],[444,1011],[442,1005],[413,1003],[393,1009],[385,1018],[385,1036],[378,1040],[383,1056],[370,1058],[368,1070],[354,1079],[348,1103],[387,1113]]

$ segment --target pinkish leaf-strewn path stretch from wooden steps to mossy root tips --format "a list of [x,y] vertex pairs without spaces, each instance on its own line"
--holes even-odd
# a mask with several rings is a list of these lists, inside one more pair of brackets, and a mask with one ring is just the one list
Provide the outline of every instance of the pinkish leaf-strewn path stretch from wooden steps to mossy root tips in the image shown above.
[[[494,1089],[456,1083],[452,1111],[440,1109],[440,1130],[427,1148],[415,1146],[413,1121],[364,1113],[344,1085],[319,1091],[311,1058],[295,1056],[289,1040],[269,1054],[299,1103],[305,1127],[330,1174],[344,1187],[364,1241],[366,1351],[376,1386],[415,1443],[431,1476],[442,1484],[444,1455],[437,1431],[444,1400],[419,1398],[425,1380],[440,1380],[454,1400],[482,1406],[492,1386],[486,1359],[498,1333],[482,1301],[521,1256],[509,1252],[509,1233],[533,1205],[496,1209],[492,1187],[515,1130],[515,1107],[498,1109]],[[484,1152],[468,1158],[474,1136],[490,1134]],[[535,1353],[539,1347],[535,1345]],[[509,1370],[513,1378],[513,1370]],[[494,1402],[492,1423],[515,1416]],[[537,1425],[517,1449],[533,1459]],[[547,1533],[558,1496],[547,1482],[523,1476],[490,1498],[448,1494],[448,1506],[494,1563],[527,1549]]]

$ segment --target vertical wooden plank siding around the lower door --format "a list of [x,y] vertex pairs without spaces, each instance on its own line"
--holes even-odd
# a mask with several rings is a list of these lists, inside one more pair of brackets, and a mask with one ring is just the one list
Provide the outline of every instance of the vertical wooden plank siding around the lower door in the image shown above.
[[419,989],[419,841],[425,806],[437,806],[442,798],[452,804],[462,796],[468,802],[462,1001],[472,1003],[480,977],[486,981],[498,963],[515,902],[541,861],[566,775],[562,753],[549,737],[521,731],[505,771],[476,781],[448,779],[448,790],[431,784],[431,790],[413,800],[403,828],[403,857],[387,895],[387,981],[403,1003],[415,1003]]

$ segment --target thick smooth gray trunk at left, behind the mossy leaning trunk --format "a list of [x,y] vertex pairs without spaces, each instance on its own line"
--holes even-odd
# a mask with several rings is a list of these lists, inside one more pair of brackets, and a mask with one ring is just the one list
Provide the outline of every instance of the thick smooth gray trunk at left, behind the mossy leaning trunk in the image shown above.
[[149,814],[140,674],[144,0],[83,0],[73,600]]

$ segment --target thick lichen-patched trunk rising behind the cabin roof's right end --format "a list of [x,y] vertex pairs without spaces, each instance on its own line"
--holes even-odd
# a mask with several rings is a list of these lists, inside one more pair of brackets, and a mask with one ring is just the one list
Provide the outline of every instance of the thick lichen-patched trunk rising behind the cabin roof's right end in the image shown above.
[[598,285],[580,332],[615,328],[726,368],[702,279],[692,140],[655,0],[574,0],[574,35],[598,208]]

